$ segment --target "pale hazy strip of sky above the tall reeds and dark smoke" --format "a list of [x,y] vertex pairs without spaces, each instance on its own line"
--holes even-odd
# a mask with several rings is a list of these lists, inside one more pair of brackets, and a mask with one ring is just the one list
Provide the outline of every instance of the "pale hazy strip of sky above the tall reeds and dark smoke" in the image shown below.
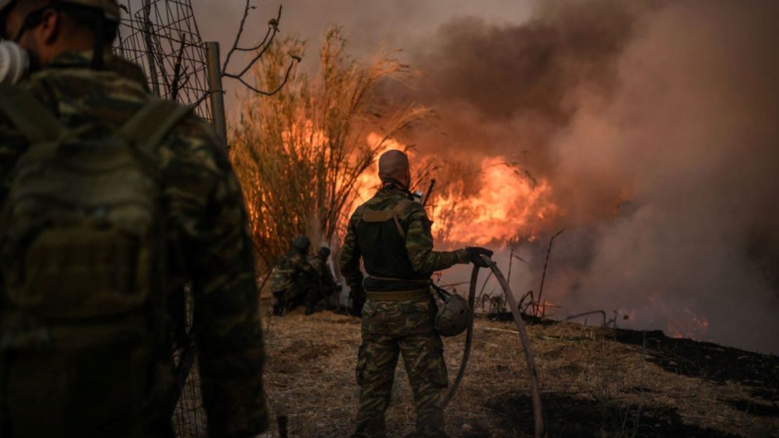
[[[138,0],[132,0],[137,2]],[[301,68],[314,72],[316,54],[322,36],[330,26],[342,26],[349,41],[349,52],[355,58],[370,56],[384,44],[392,48],[418,47],[443,23],[459,16],[479,16],[495,23],[521,23],[530,15],[530,0],[252,0],[252,10],[245,26],[246,46],[263,37],[268,19],[276,16],[283,5],[280,37],[305,40],[308,52]],[[216,40],[226,51],[234,41],[245,6],[244,0],[193,0],[203,40]],[[241,59],[232,64],[241,67]],[[234,110],[235,93],[242,91],[234,81],[225,83],[228,110]]]

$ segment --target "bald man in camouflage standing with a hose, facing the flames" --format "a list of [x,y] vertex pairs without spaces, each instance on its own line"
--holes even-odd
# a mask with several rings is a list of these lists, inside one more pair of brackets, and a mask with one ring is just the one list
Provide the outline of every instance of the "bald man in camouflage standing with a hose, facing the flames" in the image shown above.
[[[441,321],[443,335],[458,330],[452,331],[447,304],[436,317],[430,277],[458,263],[481,265],[480,255],[492,251],[478,247],[432,251],[432,221],[408,191],[411,173],[403,152],[390,151],[379,158],[379,177],[382,187],[351,216],[339,260],[351,287],[353,312],[362,316],[360,407],[354,437],[386,436],[384,412],[399,354],[414,389],[417,436],[446,436],[441,395],[449,379],[436,321]],[[360,258],[368,273],[365,279]],[[466,324],[455,325],[464,329]]]

